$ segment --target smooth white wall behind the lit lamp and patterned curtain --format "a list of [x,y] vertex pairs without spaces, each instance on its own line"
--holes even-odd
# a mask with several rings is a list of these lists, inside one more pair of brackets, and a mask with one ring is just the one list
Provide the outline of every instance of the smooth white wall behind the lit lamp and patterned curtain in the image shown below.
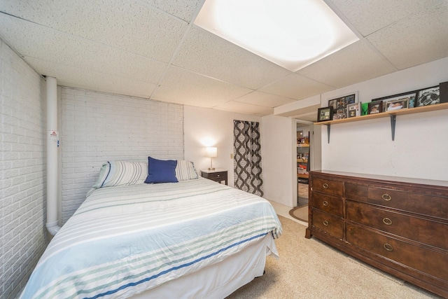
[[[218,157],[213,158],[213,166],[228,169],[229,186],[234,186],[233,159],[230,158],[230,154],[233,154],[233,120],[259,122],[262,130],[263,125],[260,116],[250,116],[247,114],[193,106],[184,106],[183,111],[185,159],[195,163],[198,174],[200,174],[200,169],[210,167],[210,158],[205,156],[206,144],[204,143],[207,143],[207,140],[211,140],[212,144],[209,146],[216,146],[218,148]],[[260,134],[261,141],[263,142],[263,133],[260,132]],[[263,188],[265,188],[266,192],[264,179],[266,174],[265,152],[263,144],[261,151]]]

